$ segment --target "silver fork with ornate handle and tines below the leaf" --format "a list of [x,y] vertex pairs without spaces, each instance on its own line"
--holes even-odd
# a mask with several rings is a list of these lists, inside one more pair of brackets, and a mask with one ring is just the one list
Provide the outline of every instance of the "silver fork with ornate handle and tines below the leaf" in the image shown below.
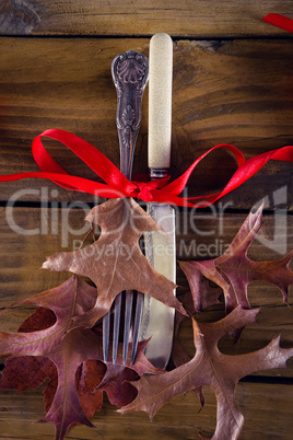
[[[131,180],[134,147],[141,121],[141,101],[149,79],[149,60],[144,55],[134,50],[120,54],[113,60],[112,77],[117,92],[116,125],[120,148],[120,171],[128,180]],[[116,297],[114,303],[113,363],[116,363],[117,359],[122,296],[125,296],[124,364],[127,361],[133,294],[136,294],[137,301],[136,311],[133,311],[131,364],[136,359],[143,293],[126,290]],[[105,362],[108,360],[109,335],[110,311],[103,319],[103,356]]]

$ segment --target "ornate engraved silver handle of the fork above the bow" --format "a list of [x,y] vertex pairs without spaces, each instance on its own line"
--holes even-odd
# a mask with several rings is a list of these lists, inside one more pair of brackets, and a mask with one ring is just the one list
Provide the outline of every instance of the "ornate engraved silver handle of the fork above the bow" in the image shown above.
[[120,171],[130,180],[141,121],[142,94],[149,79],[149,60],[142,54],[128,50],[114,58],[112,76],[118,99],[116,124],[120,146]]

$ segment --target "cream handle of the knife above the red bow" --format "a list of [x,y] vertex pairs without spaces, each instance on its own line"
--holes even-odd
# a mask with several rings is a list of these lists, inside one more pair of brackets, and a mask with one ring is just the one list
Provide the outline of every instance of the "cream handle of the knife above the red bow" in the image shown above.
[[149,167],[151,177],[163,177],[171,163],[173,43],[155,34],[150,42]]

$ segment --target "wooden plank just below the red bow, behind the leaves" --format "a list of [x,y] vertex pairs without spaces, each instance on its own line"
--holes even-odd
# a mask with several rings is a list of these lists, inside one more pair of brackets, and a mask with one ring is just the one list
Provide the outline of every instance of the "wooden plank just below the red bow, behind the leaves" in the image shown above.
[[[83,209],[37,209],[13,208],[0,210],[0,309],[16,300],[58,286],[68,279],[68,273],[51,273],[39,269],[46,256],[60,251],[78,248],[80,241],[89,230],[83,219],[87,212]],[[177,258],[202,259],[220,255],[236,235],[245,215],[224,212],[223,218],[198,219],[194,217],[189,227],[177,231]],[[262,238],[254,241],[249,248],[249,257],[255,260],[279,259],[293,248],[292,216],[283,222],[273,216],[263,216],[266,225]],[[285,221],[286,220],[286,221]],[[183,212],[177,212],[177,223],[188,224]],[[197,230],[191,228],[197,225]],[[206,224],[206,229],[203,225]],[[276,228],[276,224],[278,228]],[[201,231],[201,234],[199,233]],[[222,232],[220,232],[222,231]],[[204,233],[206,234],[204,234]],[[213,232],[207,234],[207,232]],[[222,233],[222,235],[221,235]],[[285,238],[285,240],[284,240]],[[266,241],[268,240],[268,242]],[[196,244],[194,245],[194,241]],[[222,241],[222,246],[219,245]],[[273,246],[273,241],[277,247]],[[188,243],[184,247],[181,243]],[[212,247],[211,247],[212,245]],[[201,246],[201,254],[197,250]],[[202,254],[202,250],[207,254]],[[188,254],[186,252],[188,250]],[[183,253],[181,253],[183,252]],[[184,253],[185,252],[185,253]],[[195,253],[194,253],[195,252]],[[216,253],[216,255],[214,254]],[[181,271],[178,271],[178,296],[188,290],[188,283]],[[230,337],[221,340],[221,349],[227,354],[241,354],[257,350],[281,334],[283,347],[293,346],[293,308],[284,304],[282,294],[276,286],[254,282],[249,286],[249,301],[253,308],[261,306],[257,323],[246,327],[241,343],[234,346]],[[292,305],[292,288],[289,296]],[[12,309],[0,315],[2,331],[16,331],[21,322],[32,313],[32,309]],[[215,306],[198,315],[201,321],[215,321],[224,316],[224,308]],[[194,352],[192,331],[190,322],[185,322],[180,329],[184,347],[191,356]],[[293,359],[288,369],[261,372],[261,375],[293,375]]]

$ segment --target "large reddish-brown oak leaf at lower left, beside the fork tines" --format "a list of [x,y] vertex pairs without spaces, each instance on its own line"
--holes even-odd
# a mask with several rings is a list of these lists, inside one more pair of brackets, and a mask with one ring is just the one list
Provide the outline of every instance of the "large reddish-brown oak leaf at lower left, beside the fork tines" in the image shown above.
[[[96,301],[96,289],[82,281],[78,276],[72,276],[69,280],[34,297],[31,297],[20,304],[30,304],[40,308],[46,308],[52,311],[56,315],[55,323],[45,329],[33,331],[27,333],[27,326],[24,325],[24,331],[19,333],[0,332],[0,357],[21,357],[27,368],[32,367],[32,357],[37,357],[39,362],[44,362],[44,358],[48,358],[57,368],[58,384],[56,387],[56,378],[54,373],[36,371],[35,385],[40,384],[46,374],[50,379],[49,390],[47,390],[47,415],[40,421],[52,421],[56,427],[56,439],[63,439],[71,426],[75,424],[84,424],[92,427],[87,417],[84,414],[81,401],[83,401],[82,387],[89,387],[91,393],[98,385],[96,375],[94,383],[89,384],[86,380],[86,370],[81,369],[79,375],[79,384],[77,390],[77,371],[80,366],[85,366],[85,361],[102,360],[103,348],[102,337],[94,331],[87,328],[71,329],[73,316],[82,315],[87,310],[92,309]],[[45,310],[45,309],[44,309]],[[45,319],[45,321],[47,317]],[[130,347],[131,349],[131,347]],[[127,359],[127,366],[130,367],[130,355]],[[16,367],[20,367],[20,362]],[[45,362],[46,363],[46,362]],[[117,363],[122,363],[122,348],[119,347]],[[46,363],[46,368],[51,364]],[[89,364],[86,364],[86,369]],[[142,372],[156,373],[157,370],[146,360],[142,352],[141,346],[138,349],[137,360],[132,369]],[[11,366],[10,366],[11,370]],[[27,373],[25,364],[22,368],[22,378],[25,380]],[[28,372],[30,377],[30,372]],[[92,378],[93,379],[93,378]],[[13,381],[15,382],[14,377]],[[4,381],[9,381],[9,371],[4,374]],[[83,383],[82,383],[83,382]],[[34,385],[34,379],[31,378],[31,386]],[[24,385],[20,385],[23,387]],[[17,385],[15,386],[17,389]],[[50,396],[52,396],[50,404]],[[81,396],[81,401],[80,397]],[[91,397],[94,397],[93,395]],[[87,412],[93,410],[93,401]]]

